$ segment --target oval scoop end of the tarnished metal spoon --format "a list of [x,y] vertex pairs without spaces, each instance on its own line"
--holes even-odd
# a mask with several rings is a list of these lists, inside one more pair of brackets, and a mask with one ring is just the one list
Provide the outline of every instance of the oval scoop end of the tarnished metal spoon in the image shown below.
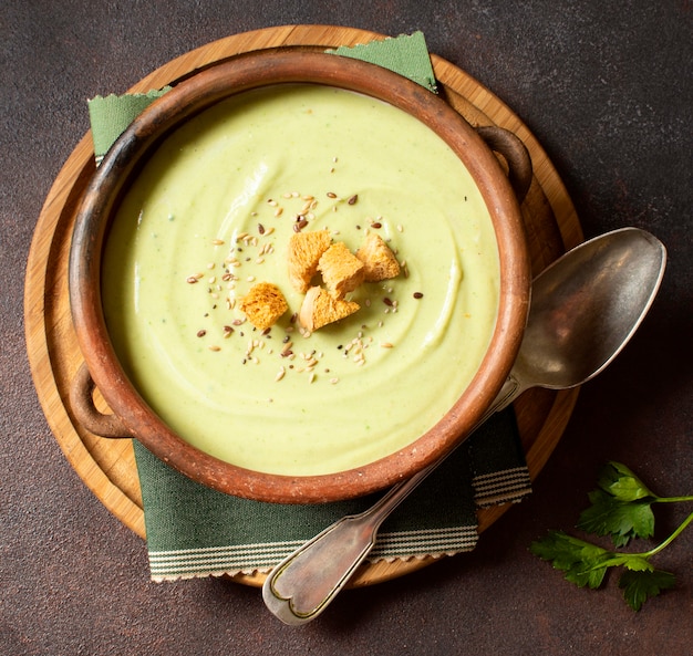
[[549,265],[532,283],[531,317],[511,371],[520,392],[566,389],[599,374],[650,309],[664,260],[659,240],[624,228]]

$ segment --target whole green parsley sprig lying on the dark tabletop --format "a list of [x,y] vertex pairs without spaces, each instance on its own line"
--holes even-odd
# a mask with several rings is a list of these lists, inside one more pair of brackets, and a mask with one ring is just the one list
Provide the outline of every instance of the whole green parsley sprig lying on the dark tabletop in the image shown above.
[[[577,528],[599,537],[609,535],[616,549],[625,546],[634,538],[654,535],[654,503],[693,501],[692,497],[659,497],[628,467],[608,462],[601,470],[598,488],[590,492],[591,506],[578,520]],[[621,568],[619,587],[631,608],[639,611],[650,597],[674,586],[675,576],[658,570],[650,562],[693,522],[693,512],[663,542],[649,551],[629,553],[603,549],[563,531],[549,531],[532,542],[531,553],[554,568],[579,587],[598,589],[610,568]]]

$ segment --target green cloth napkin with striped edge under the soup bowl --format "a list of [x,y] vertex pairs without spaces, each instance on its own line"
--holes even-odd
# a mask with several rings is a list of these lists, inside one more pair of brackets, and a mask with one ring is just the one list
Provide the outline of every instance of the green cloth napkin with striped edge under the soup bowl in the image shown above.
[[[435,88],[421,32],[331,51],[368,59]],[[97,162],[128,123],[167,88],[90,101]],[[169,468],[135,441],[154,581],[269,571],[340,517],[376,496],[311,506],[282,506],[223,494]],[[452,555],[477,542],[476,510],[519,501],[531,491],[511,409],[496,414],[386,520],[369,554],[379,560]]]

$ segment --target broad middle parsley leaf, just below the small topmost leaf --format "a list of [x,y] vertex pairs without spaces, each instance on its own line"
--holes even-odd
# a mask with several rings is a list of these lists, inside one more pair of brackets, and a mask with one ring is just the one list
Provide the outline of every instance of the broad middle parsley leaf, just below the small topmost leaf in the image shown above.
[[590,492],[589,499],[592,504],[580,514],[579,529],[597,535],[611,535],[616,546],[628,544],[631,538],[651,538],[654,534],[654,513],[650,502],[623,503],[602,490]]

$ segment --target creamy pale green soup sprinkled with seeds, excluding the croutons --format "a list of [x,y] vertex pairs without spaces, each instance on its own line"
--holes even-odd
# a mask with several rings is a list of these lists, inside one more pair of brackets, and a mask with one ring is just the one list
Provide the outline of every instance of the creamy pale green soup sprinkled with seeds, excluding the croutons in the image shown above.
[[[310,333],[287,248],[322,229],[352,252],[376,231],[401,270]],[[266,330],[240,309],[260,282],[288,304]],[[498,284],[488,210],[439,137],[380,101],[281,85],[166,138],[117,210],[102,291],[125,371],[182,438],[302,476],[371,462],[436,424],[480,364]]]

